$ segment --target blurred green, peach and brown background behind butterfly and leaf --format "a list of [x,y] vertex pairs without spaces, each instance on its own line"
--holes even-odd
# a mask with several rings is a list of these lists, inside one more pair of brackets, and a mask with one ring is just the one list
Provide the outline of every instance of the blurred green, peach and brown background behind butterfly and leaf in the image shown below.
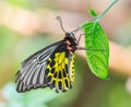
[[[102,13],[112,0],[0,0],[0,107],[130,107],[131,1],[119,0],[100,23],[110,40],[109,80],[91,73],[84,51],[76,51],[75,82],[67,93],[39,88],[19,94],[14,78],[20,63],[35,51],[63,38],[66,31]],[[84,45],[81,39],[80,46]]]

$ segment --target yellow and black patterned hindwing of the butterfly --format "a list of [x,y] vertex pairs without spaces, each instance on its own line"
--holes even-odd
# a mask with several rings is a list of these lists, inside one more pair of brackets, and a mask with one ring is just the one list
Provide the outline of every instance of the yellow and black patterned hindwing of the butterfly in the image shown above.
[[66,92],[71,88],[72,78],[72,62],[73,52],[66,50],[66,48],[58,49],[49,59],[47,66],[48,74],[47,81],[50,88],[56,90],[57,92]]

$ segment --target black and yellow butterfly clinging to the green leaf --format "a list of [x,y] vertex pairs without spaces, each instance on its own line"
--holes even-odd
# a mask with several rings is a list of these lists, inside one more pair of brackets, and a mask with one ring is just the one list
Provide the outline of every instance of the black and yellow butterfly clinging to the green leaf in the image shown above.
[[79,49],[79,39],[75,29],[68,33],[62,27],[64,38],[37,51],[22,62],[21,69],[15,74],[16,91],[19,93],[38,87],[50,87],[56,92],[67,92],[74,82],[74,51]]

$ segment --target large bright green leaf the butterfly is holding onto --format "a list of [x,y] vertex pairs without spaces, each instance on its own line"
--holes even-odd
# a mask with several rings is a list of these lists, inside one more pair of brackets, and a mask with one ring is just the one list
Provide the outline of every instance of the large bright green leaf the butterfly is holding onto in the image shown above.
[[84,24],[86,59],[92,72],[100,78],[108,76],[109,44],[98,22]]

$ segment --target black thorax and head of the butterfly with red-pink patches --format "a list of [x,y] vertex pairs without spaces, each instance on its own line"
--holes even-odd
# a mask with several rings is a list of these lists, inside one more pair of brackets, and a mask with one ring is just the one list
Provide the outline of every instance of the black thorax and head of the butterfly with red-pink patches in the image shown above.
[[73,33],[66,33],[66,37],[63,39],[67,44],[67,49],[69,51],[75,51],[78,48],[78,41]]

